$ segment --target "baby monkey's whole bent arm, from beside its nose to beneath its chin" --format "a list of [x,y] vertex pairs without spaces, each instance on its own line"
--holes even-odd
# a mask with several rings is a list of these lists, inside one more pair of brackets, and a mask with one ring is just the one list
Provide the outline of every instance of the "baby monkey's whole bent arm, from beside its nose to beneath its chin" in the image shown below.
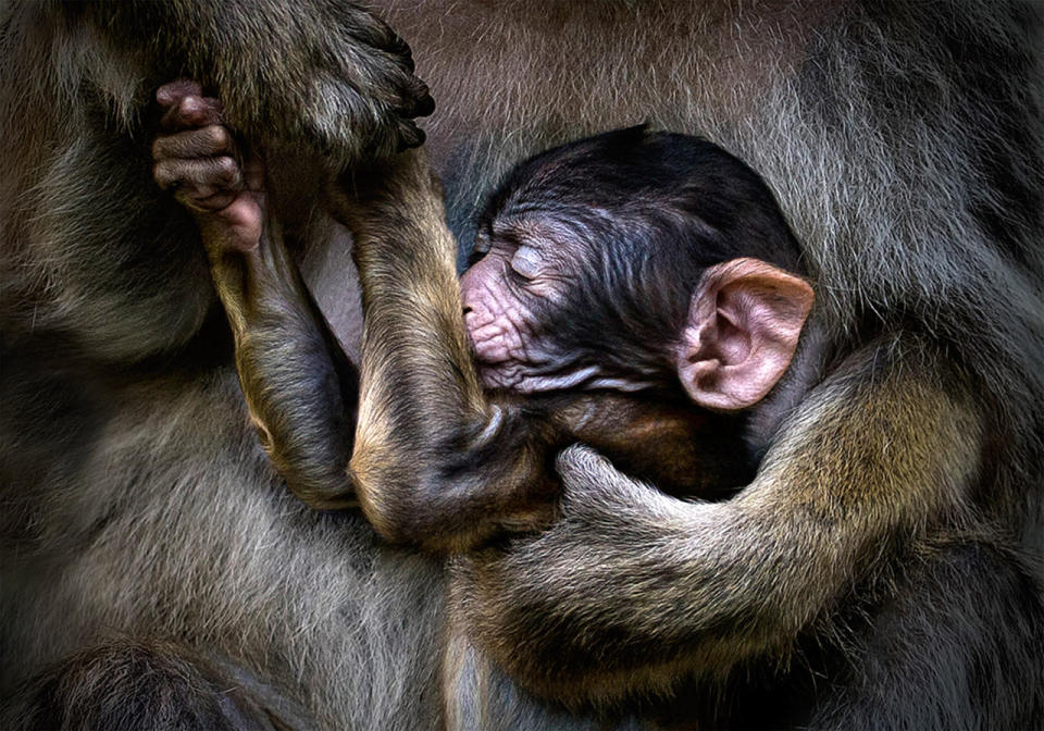
[[[349,473],[382,535],[461,552],[505,528],[542,525],[552,512],[551,455],[575,439],[674,488],[738,484],[730,479],[739,464],[704,456],[728,442],[700,433],[695,409],[625,396],[577,394],[536,405],[484,395],[467,345],[456,243],[426,160],[356,170],[343,186],[333,205],[355,236],[365,309]],[[732,444],[729,454],[738,462],[741,451]]]

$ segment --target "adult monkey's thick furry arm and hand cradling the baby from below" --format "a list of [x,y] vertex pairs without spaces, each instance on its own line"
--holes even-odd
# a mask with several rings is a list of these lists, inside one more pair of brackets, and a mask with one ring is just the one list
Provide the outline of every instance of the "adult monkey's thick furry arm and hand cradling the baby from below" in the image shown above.
[[[898,344],[849,359],[788,420],[755,481],[688,503],[594,453],[559,459],[561,519],[459,561],[458,621],[531,690],[591,703],[785,658],[885,555],[962,504],[982,424],[956,379]],[[931,362],[907,344],[908,356]]]

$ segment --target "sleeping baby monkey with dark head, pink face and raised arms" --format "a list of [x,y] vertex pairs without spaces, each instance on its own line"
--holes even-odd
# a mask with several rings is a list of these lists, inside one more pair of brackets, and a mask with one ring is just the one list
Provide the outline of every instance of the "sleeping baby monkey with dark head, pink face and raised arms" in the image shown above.
[[355,496],[388,540],[461,552],[551,519],[554,456],[576,441],[672,492],[753,476],[749,420],[813,295],[739,160],[644,127],[538,154],[490,197],[459,284],[423,153],[345,173],[326,202],[355,238],[357,381],[265,213],[257,163],[236,164],[216,102],[172,86],[157,181],[197,216],[251,414],[303,499]]

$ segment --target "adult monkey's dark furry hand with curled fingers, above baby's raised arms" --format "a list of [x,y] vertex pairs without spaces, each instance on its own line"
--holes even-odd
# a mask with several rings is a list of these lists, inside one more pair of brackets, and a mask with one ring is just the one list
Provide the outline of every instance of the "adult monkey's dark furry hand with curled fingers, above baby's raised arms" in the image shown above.
[[[304,146],[332,169],[421,145],[424,133],[413,120],[435,103],[413,75],[409,46],[362,8],[320,9],[302,20],[273,4],[265,22],[229,30],[232,49],[198,66],[219,91],[226,120],[266,146]],[[257,28],[268,33],[259,37]]]

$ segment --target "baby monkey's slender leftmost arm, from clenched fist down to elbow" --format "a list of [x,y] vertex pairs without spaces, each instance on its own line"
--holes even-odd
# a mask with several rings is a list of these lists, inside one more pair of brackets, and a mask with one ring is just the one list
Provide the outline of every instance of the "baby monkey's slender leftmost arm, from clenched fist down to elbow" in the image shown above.
[[236,370],[262,444],[290,490],[318,508],[352,505],[345,474],[358,374],[312,303],[278,222],[261,160],[237,162],[221,103],[198,84],[159,89],[157,183],[192,212],[235,339]]

